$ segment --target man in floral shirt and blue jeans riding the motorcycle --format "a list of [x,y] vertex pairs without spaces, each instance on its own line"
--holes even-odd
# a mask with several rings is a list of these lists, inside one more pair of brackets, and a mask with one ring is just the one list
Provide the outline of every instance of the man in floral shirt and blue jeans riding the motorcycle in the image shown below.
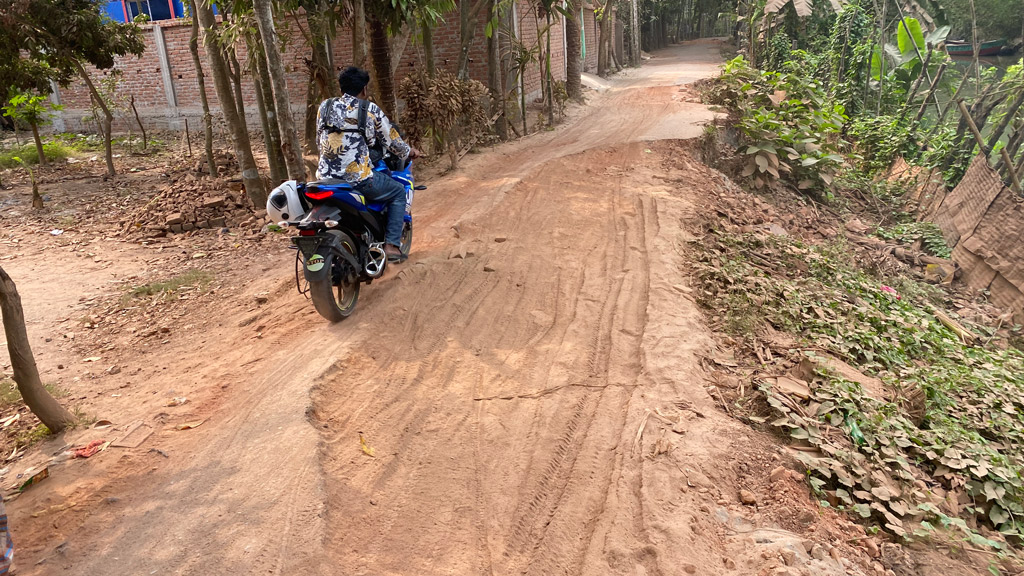
[[[354,66],[338,74],[342,96],[328,98],[316,112],[316,142],[319,164],[316,177],[335,178],[352,184],[370,202],[387,206],[384,252],[389,261],[401,259],[401,230],[406,216],[406,189],[384,172],[374,171],[376,158],[387,149],[402,162],[420,156],[406,143],[397,128],[375,104],[366,104],[370,74]],[[360,106],[365,126],[360,129]],[[379,156],[378,156],[379,158]]]

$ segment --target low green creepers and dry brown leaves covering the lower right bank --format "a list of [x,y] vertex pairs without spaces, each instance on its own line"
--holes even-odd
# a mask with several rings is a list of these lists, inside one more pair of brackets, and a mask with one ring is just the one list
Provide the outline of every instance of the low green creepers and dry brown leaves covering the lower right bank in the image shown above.
[[[699,302],[749,357],[766,325],[798,340],[761,373],[823,351],[885,383],[876,398],[817,369],[799,398],[756,376],[736,402],[734,413],[820,452],[802,459],[822,502],[901,537],[947,529],[977,546],[1024,543],[1024,354],[963,341],[933,314],[934,287],[872,276],[842,242],[720,234],[696,246]],[[979,341],[993,334],[968,328]]]

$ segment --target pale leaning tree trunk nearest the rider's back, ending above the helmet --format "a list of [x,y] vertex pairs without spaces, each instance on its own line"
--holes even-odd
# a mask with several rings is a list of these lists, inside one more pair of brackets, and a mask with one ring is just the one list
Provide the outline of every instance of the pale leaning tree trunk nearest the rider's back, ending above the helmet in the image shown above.
[[292,118],[285,64],[278,48],[278,32],[273,27],[270,0],[253,0],[253,10],[256,12],[256,25],[259,27],[260,38],[263,39],[263,51],[266,53],[270,81],[273,83],[273,102],[278,112],[278,126],[281,128],[282,151],[285,153],[285,163],[288,165],[288,176],[302,181],[306,179],[306,167],[302,164],[299,134],[295,130],[295,119]]

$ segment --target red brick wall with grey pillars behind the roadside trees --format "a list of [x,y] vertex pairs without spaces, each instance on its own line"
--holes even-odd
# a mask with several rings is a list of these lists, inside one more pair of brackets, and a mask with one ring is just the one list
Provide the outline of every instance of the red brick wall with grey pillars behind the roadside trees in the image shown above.
[[[531,11],[523,2],[517,2],[517,9],[520,12],[520,30],[525,34],[527,42],[534,42],[537,36],[537,24]],[[559,80],[565,78],[565,59],[563,42],[563,27],[561,15],[552,16],[556,20],[556,26],[552,28],[552,74]],[[286,19],[278,23],[279,33],[282,37],[289,39],[282,56],[285,60],[287,82],[289,93],[292,97],[292,110],[296,114],[296,121],[301,122],[305,112],[306,84],[308,71],[304,57],[309,54],[309,46],[305,42],[302,33],[295,29],[294,22]],[[542,25],[543,26],[543,25]],[[157,35],[162,34],[164,46],[167,53],[167,71],[160,56]],[[191,24],[189,20],[163,20],[160,23],[145,25],[143,27],[143,39],[145,41],[145,51],[140,57],[125,56],[118,58],[115,69],[122,72],[119,92],[122,94],[134,94],[135,106],[139,116],[147,128],[159,129],[182,129],[185,118],[190,126],[199,126],[202,118],[202,106],[199,97],[199,86],[197,84],[197,74],[193,66],[191,53],[188,50],[188,39],[191,35]],[[532,38],[532,39],[530,39]],[[206,50],[202,39],[199,43],[200,58],[203,63],[203,70],[206,76],[207,96],[214,115],[219,112],[219,101],[214,88],[213,78],[209,68],[209,60],[206,57]],[[246,64],[246,46],[240,42],[236,46],[239,61],[243,68],[243,99],[246,105],[246,118],[250,126],[258,127],[259,115],[256,109],[255,91],[253,90],[252,79],[248,74]],[[460,50],[459,14],[453,12],[438,26],[434,33],[434,63],[438,68],[443,68],[452,72],[455,71]],[[336,71],[349,65],[352,57],[351,32],[346,29],[338,31],[331,46],[332,56]],[[414,39],[410,40],[406,51],[402,54],[401,63],[395,73],[395,86],[398,82],[412,72],[418,70],[423,58],[423,47]],[[484,34],[484,23],[482,18],[477,22],[476,34],[470,46],[470,77],[486,83],[487,58],[486,58],[486,35]],[[89,71],[95,82],[101,81],[111,75],[111,71]],[[167,79],[165,81],[165,78]],[[540,95],[541,73],[538,66],[532,65],[527,71],[527,92]],[[171,95],[168,96],[168,88],[165,82],[170,83]],[[89,110],[89,93],[85,84],[81,81],[74,82],[67,88],[59,90],[60,102],[65,106],[61,113],[63,125],[68,130],[93,129],[93,125],[83,122],[83,119],[91,115]],[[116,113],[117,114],[117,113]],[[117,114],[115,129],[124,130],[133,123],[134,119],[130,111]]]

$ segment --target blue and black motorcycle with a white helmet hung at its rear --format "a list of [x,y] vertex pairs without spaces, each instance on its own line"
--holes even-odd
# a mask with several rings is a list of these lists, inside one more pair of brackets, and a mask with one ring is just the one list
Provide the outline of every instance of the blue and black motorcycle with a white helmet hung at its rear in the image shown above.
[[[413,194],[427,187],[416,186],[411,161],[398,166],[394,158],[386,157],[374,170],[387,173],[406,189],[400,246],[404,260],[413,247]],[[291,239],[296,249],[296,288],[308,293],[313,307],[330,322],[348,318],[359,298],[359,285],[372,283],[387,270],[386,208],[368,203],[349,183],[286,181],[267,198],[267,213],[280,218],[280,227],[298,230],[298,236]],[[299,279],[300,268],[305,287]]]

